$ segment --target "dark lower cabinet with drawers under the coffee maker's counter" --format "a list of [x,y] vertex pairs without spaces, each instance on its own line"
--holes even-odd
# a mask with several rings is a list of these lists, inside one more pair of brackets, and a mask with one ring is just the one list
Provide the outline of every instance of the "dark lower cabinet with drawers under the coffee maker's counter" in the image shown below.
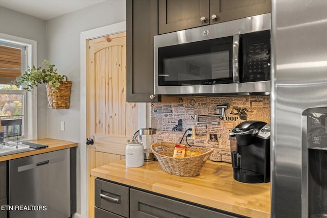
[[[205,206],[184,202],[167,196],[161,196],[154,192],[135,189],[123,184],[116,184],[100,178],[96,179],[95,193],[96,218],[244,217],[226,211],[205,208]],[[100,193],[102,193],[102,197]],[[103,197],[103,195],[109,198]]]

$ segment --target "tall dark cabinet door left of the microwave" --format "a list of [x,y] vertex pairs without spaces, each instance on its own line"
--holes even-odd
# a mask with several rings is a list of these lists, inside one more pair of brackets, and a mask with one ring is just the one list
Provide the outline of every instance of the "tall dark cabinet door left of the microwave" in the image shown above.
[[126,1],[126,100],[157,102],[153,94],[153,36],[158,32],[158,2]]

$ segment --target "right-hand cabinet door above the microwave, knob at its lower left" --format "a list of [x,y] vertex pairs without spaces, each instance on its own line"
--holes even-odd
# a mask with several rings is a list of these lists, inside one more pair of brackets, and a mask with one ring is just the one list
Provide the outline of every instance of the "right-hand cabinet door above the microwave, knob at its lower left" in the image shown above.
[[270,11],[271,0],[211,0],[210,17],[216,15],[217,18],[211,19],[210,23],[266,14]]

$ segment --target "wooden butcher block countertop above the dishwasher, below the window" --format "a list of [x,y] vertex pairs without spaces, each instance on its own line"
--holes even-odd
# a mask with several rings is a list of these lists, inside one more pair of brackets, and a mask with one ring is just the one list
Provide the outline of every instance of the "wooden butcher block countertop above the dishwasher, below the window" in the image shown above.
[[53,139],[53,138],[42,138],[42,139],[34,139],[34,140],[27,140],[33,143],[38,143],[38,144],[45,144],[49,146],[48,148],[45,149],[36,149],[32,151],[25,151],[21,153],[16,153],[16,154],[10,154],[10,155],[5,155],[5,156],[0,156],[0,162],[1,161],[6,161],[6,160],[12,160],[16,158],[21,158],[21,157],[27,157],[31,155],[36,155],[36,154],[42,154],[46,152],[53,152],[61,149],[68,149],[68,148],[73,148],[77,147],[78,143],[77,142],[72,142],[72,141],[64,141],[64,140],[59,140],[59,139]]

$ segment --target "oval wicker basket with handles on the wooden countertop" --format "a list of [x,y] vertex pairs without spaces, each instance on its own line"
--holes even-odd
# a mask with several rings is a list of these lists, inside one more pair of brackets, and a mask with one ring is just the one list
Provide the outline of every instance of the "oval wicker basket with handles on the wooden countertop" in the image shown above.
[[[188,147],[187,150],[202,152],[193,157],[174,158],[176,143],[156,142],[151,145],[151,150],[166,173],[177,176],[192,177],[200,174],[202,166],[208,157],[213,153],[212,148]],[[156,152],[156,147],[161,147],[163,151]]]

